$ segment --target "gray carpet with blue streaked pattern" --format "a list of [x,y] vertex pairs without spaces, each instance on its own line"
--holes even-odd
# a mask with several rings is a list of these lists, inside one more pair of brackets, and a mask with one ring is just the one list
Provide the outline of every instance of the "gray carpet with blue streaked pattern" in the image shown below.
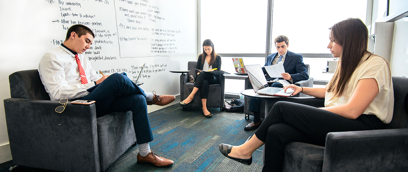
[[[244,131],[251,122],[244,119],[243,112],[220,112],[220,108],[209,108],[212,118],[202,115],[201,108],[182,111],[178,104],[149,113],[154,140],[150,142],[153,152],[172,159],[168,168],[157,168],[150,164],[136,163],[137,145],[127,150],[106,172],[260,172],[262,152],[255,151],[251,165],[243,165],[224,157],[218,145],[228,143],[240,145],[253,135]],[[262,149],[261,149],[262,150]],[[10,163],[6,162],[6,163]],[[0,164],[0,171],[7,169]],[[6,165],[6,166],[5,166]],[[42,171],[26,169],[27,172]],[[48,170],[47,170],[48,171]]]

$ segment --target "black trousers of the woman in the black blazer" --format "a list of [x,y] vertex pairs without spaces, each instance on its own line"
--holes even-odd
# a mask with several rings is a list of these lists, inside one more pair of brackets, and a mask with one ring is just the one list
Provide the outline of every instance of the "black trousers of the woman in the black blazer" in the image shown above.
[[218,84],[218,79],[208,72],[201,72],[200,75],[195,78],[194,87],[197,87],[200,91],[201,99],[208,98],[208,86],[211,84]]

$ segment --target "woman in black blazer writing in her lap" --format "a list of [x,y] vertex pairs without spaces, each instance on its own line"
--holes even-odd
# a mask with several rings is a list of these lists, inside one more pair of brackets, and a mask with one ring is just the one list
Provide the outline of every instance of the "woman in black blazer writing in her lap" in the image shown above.
[[[206,39],[203,42],[203,53],[198,55],[196,69],[201,69],[202,71],[219,71],[221,70],[221,56],[217,55],[214,51],[214,44],[210,39]],[[216,68],[216,69],[215,69]],[[186,99],[180,102],[181,106],[186,106],[192,103],[195,93],[200,90],[200,97],[203,109],[203,115],[207,118],[211,118],[211,114],[207,109],[207,97],[208,97],[208,86],[211,84],[218,84],[219,78],[211,75],[211,73],[195,71],[197,73],[197,78],[195,79],[195,84],[193,91],[188,95]]]

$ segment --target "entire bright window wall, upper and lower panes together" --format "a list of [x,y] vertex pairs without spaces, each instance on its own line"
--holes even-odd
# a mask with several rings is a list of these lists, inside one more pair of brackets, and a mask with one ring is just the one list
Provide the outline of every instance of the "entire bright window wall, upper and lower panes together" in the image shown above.
[[[270,2],[272,14],[268,14]],[[222,70],[235,73],[232,57],[263,66],[266,55],[276,53],[275,37],[286,35],[288,50],[302,54],[304,63],[310,65],[310,77],[328,81],[333,74],[322,72],[327,61],[333,60],[327,49],[328,28],[347,18],[360,18],[365,23],[366,15],[367,0],[201,0],[199,45],[211,39],[215,52],[222,55]],[[271,47],[266,49],[269,41]],[[243,89],[240,85],[243,87],[242,80],[227,79],[225,92],[239,93]]]

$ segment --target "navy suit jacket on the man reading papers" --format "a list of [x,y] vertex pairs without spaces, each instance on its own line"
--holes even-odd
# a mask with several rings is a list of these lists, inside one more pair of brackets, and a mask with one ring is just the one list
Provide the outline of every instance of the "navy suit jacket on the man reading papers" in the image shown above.
[[[277,53],[268,55],[264,66],[271,66],[272,60],[273,58],[275,58],[276,54]],[[309,75],[307,74],[307,70],[306,70],[306,65],[303,63],[303,56],[300,54],[292,53],[288,51],[288,53],[286,53],[286,57],[283,62],[283,67],[285,68],[285,72],[289,73],[290,76],[292,77],[293,83],[309,79]],[[266,78],[270,79],[264,67],[262,67],[262,71],[264,71],[264,74],[266,74]],[[275,79],[275,78],[272,78],[272,79]],[[279,78],[279,79],[283,79],[283,78]]]

